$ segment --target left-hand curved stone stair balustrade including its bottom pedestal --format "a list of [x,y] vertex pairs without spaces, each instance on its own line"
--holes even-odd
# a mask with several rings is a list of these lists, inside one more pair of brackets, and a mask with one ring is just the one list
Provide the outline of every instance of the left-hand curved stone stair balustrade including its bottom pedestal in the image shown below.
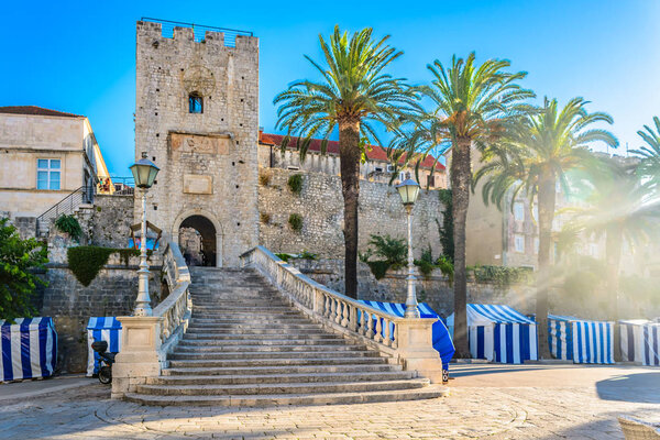
[[162,272],[169,295],[150,317],[119,317],[122,350],[112,366],[112,397],[123,397],[147,377],[158,376],[167,353],[185,333],[193,302],[188,287],[190,273],[178,245],[167,238]]

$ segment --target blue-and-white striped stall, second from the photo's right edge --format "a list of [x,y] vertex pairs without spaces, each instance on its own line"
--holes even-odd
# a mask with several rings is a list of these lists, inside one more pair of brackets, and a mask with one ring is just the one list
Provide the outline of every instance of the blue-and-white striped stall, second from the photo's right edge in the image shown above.
[[548,315],[548,343],[556,359],[576,364],[613,364],[614,322]]

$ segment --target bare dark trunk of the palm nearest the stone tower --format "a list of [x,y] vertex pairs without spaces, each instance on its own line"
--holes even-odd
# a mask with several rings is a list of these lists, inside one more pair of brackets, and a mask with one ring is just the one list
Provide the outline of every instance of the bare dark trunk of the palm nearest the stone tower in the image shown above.
[[344,293],[358,298],[358,204],[360,196],[360,121],[339,123],[341,193],[344,199]]

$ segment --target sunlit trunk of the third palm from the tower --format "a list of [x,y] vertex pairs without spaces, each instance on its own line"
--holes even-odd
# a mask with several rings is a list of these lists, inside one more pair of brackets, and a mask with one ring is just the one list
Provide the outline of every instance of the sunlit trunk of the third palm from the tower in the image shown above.
[[550,359],[548,343],[548,292],[552,252],[552,220],[557,201],[556,178],[551,172],[541,172],[539,179],[539,273],[537,277],[536,321],[539,359]]

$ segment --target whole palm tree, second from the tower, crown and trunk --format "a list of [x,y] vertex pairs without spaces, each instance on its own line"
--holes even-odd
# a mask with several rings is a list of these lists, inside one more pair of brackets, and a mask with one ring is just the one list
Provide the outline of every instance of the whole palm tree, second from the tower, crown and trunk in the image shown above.
[[[454,241],[454,344],[457,356],[469,358],[465,277],[465,219],[472,182],[472,147],[483,150],[506,133],[507,127],[524,114],[524,105],[534,92],[517,81],[524,72],[507,73],[508,61],[488,59],[481,66],[475,55],[452,57],[451,66],[436,61],[428,65],[433,75],[430,86],[421,87],[433,109],[422,114],[413,132],[402,138],[410,158],[433,152],[438,145],[451,148],[451,187]],[[399,148],[400,151],[400,148]],[[418,161],[419,163],[419,161]]]

